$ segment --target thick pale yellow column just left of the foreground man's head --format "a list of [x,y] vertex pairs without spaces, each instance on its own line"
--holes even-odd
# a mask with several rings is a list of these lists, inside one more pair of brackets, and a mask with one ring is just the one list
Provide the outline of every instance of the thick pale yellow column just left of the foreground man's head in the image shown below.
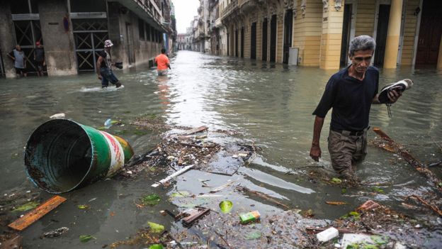
[[338,70],[341,57],[343,7],[334,8],[335,0],[324,5],[322,13],[321,56],[319,67],[325,70]]

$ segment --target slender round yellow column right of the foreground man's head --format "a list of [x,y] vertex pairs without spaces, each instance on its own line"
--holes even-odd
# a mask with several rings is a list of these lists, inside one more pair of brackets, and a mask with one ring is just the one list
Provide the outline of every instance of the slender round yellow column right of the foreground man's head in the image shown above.
[[396,68],[403,0],[392,0],[385,43],[384,68]]

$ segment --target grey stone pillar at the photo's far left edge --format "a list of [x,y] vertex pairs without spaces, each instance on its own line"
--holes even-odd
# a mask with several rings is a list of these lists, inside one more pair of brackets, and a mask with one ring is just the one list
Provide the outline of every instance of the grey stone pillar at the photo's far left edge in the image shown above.
[[4,62],[4,70],[7,78],[16,77],[13,61],[8,57],[15,47],[16,35],[11,17],[11,6],[8,1],[0,1],[0,50]]

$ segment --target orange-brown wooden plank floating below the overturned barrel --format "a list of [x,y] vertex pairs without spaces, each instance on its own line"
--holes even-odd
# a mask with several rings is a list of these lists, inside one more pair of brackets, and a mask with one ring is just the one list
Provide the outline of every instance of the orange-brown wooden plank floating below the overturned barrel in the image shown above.
[[23,231],[23,229],[27,228],[35,221],[38,221],[38,219],[42,218],[42,216],[45,216],[45,214],[49,213],[52,209],[55,209],[64,201],[66,201],[66,198],[56,195],[55,197],[52,197],[51,199],[45,201],[45,203],[41,204],[36,209],[28,212],[28,214],[25,214],[23,217],[18,218],[16,221],[9,224],[8,226],[18,231]]

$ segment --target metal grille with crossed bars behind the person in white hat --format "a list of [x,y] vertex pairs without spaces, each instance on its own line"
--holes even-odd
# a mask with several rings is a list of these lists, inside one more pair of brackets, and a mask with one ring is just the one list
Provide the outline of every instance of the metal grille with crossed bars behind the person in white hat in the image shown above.
[[109,37],[107,19],[74,19],[72,27],[79,72],[95,71],[98,52]]

